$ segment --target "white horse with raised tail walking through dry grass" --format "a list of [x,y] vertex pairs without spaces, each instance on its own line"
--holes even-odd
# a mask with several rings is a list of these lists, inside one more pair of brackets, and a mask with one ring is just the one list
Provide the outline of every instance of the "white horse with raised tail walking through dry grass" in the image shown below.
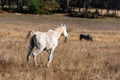
[[53,58],[53,52],[55,48],[58,45],[58,39],[61,34],[65,37],[65,42],[68,37],[68,33],[66,30],[66,25],[61,24],[59,27],[55,29],[50,29],[48,32],[33,32],[29,31],[27,36],[25,37],[25,40],[30,36],[30,34],[33,34],[32,38],[30,39],[30,43],[28,46],[28,53],[26,57],[26,63],[28,63],[28,60],[30,58],[30,54],[34,47],[36,47],[36,50],[32,53],[35,67],[37,67],[36,62],[36,56],[38,53],[41,53],[43,50],[46,50],[48,52],[48,61],[46,63],[46,66],[49,67],[49,64],[51,63],[51,60]]

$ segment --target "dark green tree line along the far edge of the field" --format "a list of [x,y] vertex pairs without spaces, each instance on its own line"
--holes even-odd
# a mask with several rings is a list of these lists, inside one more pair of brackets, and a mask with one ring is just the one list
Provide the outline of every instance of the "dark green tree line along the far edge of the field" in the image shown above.
[[[120,0],[0,0],[0,9],[10,12],[52,14],[66,13],[70,16],[117,16]],[[76,11],[78,9],[78,11]],[[94,12],[90,10],[95,9]],[[109,11],[112,10],[112,14]]]

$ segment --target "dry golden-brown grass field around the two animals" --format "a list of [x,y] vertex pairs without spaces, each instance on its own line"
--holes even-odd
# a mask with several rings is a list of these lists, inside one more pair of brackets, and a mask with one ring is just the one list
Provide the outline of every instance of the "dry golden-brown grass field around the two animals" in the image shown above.
[[[26,68],[29,30],[48,31],[65,22],[69,32],[55,49],[49,68],[47,52],[32,56]],[[81,33],[91,34],[93,42],[79,41]],[[81,19],[64,15],[0,14],[0,80],[120,80],[120,19]]]

